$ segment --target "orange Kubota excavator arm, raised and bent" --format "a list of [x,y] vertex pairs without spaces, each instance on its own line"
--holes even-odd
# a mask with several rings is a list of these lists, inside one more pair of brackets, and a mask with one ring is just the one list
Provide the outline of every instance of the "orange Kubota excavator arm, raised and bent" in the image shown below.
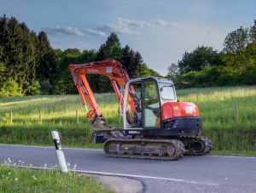
[[[86,75],[94,74],[94,75],[102,75],[109,78],[114,93],[119,99],[119,103],[121,105],[121,109],[123,110],[124,105],[124,96],[125,93],[125,84],[130,80],[125,68],[116,60],[104,60],[104,61],[96,61],[90,62],[88,64],[82,65],[69,65],[69,70],[73,75],[74,84],[77,86],[79,90],[80,99],[82,100],[84,107],[87,111],[87,117],[90,120],[94,120],[95,115],[98,117],[102,116],[102,112],[98,108],[96,103],[96,99],[94,94],[90,88],[90,84],[87,81]],[[134,93],[133,88],[129,90],[129,96]],[[90,110],[86,105],[86,100],[90,105]],[[131,105],[131,111],[134,114],[136,111],[135,105],[136,103],[130,96],[130,100],[128,101],[129,105]],[[126,115],[127,121],[132,122],[131,115]]]

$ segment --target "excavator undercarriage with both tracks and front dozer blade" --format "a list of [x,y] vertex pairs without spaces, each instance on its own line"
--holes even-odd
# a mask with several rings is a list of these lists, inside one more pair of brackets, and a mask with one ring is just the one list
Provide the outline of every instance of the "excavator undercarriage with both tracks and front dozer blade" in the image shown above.
[[127,135],[124,130],[101,130],[93,136],[94,143],[104,142],[104,151],[111,157],[174,161],[212,150],[211,140],[203,136],[145,137]]

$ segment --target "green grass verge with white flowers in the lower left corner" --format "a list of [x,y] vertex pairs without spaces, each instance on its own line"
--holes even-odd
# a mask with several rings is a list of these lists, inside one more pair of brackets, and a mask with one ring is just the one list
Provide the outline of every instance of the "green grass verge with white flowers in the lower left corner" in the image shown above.
[[0,165],[0,192],[113,192],[91,176]]

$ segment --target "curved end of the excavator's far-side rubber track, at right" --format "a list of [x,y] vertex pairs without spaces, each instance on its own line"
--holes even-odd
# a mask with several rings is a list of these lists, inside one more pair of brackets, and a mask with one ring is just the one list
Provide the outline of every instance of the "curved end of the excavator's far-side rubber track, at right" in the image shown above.
[[185,155],[189,155],[189,156],[203,156],[208,154],[211,150],[212,150],[212,141],[210,139],[207,139],[206,137],[203,136],[199,136],[199,137],[189,137],[189,139],[195,141],[201,141],[204,145],[204,149],[201,150],[200,152],[195,152],[195,151],[189,151],[186,150],[185,151]]

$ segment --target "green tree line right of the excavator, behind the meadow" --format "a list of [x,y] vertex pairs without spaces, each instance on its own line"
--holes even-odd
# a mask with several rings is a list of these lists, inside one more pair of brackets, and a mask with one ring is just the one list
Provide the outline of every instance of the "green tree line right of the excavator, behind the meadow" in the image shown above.
[[231,31],[220,52],[205,46],[185,52],[168,67],[168,77],[179,88],[256,84],[256,20],[253,26]]

